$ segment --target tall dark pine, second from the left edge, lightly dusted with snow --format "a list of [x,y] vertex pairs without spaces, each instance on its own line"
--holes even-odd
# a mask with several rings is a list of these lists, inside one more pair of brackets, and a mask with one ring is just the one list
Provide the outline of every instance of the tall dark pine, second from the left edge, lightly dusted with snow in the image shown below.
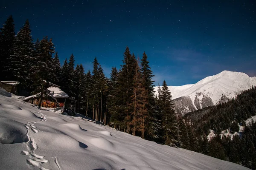
[[8,69],[12,72],[14,80],[20,82],[21,90],[27,91],[30,85],[29,75],[32,67],[33,43],[29,20],[15,37]]

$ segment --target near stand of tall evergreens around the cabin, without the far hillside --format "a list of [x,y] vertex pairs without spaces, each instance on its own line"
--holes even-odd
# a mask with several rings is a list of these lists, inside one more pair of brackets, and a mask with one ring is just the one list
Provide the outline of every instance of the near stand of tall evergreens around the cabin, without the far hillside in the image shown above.
[[[145,52],[136,59],[128,47],[119,70],[106,77],[97,58],[92,72],[75,65],[73,54],[61,66],[52,39],[32,40],[29,21],[15,35],[9,16],[0,30],[1,80],[18,81],[19,95],[47,94],[52,84],[76,99],[76,111],[118,130],[171,146],[183,146],[172,96],[163,82],[158,98]],[[39,100],[38,107],[41,106]],[[164,120],[164,121],[163,121]]]

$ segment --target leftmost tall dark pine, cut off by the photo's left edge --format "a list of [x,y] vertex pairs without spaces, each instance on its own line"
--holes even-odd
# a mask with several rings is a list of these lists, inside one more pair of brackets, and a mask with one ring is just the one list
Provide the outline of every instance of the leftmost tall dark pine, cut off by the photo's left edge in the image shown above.
[[15,24],[10,15],[3,27],[0,28],[0,80],[12,80],[12,73],[8,71],[8,62],[13,54],[12,48],[15,42]]

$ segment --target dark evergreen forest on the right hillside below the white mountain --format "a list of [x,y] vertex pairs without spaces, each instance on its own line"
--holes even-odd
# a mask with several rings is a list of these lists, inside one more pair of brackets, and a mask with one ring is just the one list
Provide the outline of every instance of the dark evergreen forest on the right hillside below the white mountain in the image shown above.
[[[191,124],[199,139],[200,153],[256,169],[256,122],[245,122],[255,115],[256,87],[252,87],[236,99],[187,113],[183,119]],[[244,127],[242,132],[239,132],[239,125]],[[214,130],[215,136],[207,141],[210,129]],[[225,135],[221,137],[221,132],[227,129],[232,134],[239,133],[232,140]]]

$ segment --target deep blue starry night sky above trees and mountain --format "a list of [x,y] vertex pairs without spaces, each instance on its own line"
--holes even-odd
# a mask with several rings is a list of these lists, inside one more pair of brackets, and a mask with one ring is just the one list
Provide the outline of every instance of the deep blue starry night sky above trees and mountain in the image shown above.
[[61,64],[73,53],[87,71],[97,57],[108,77],[126,45],[146,52],[156,85],[224,70],[256,76],[254,0],[1,0],[0,23],[10,14],[16,31],[29,19],[34,40],[51,37]]

